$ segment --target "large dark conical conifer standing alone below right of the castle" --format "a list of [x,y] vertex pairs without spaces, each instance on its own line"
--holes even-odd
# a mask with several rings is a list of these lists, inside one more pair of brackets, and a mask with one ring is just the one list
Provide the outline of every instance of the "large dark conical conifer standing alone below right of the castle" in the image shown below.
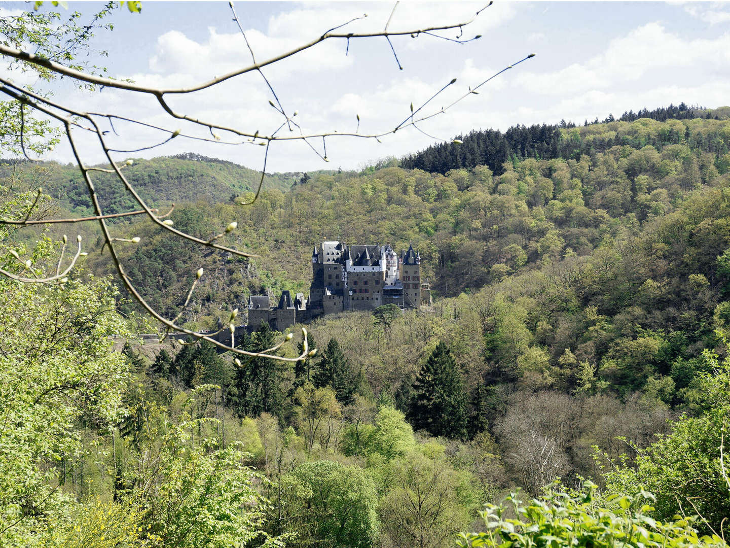
[[456,360],[444,343],[437,344],[421,368],[413,392],[409,418],[415,430],[466,437],[466,394]]

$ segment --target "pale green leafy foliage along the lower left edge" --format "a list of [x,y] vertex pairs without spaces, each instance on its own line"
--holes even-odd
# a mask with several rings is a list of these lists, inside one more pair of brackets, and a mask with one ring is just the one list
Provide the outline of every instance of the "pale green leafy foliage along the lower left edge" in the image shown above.
[[126,332],[114,297],[104,280],[0,281],[0,544],[28,541],[60,514],[55,486],[84,454],[81,425],[125,414],[128,366],[108,338]]

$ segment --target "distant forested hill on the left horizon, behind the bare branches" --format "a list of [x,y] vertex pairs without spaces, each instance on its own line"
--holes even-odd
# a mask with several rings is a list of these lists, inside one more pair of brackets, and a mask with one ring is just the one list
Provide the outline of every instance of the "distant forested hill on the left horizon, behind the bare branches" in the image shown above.
[[[231,195],[255,189],[261,178],[261,172],[256,170],[196,153],[133,161],[132,165],[124,166],[124,173],[151,205],[201,199],[225,202]],[[43,186],[59,200],[59,205],[80,216],[93,215],[91,200],[78,168],[74,164],[55,162],[46,165],[49,180]],[[264,184],[269,189],[286,190],[300,177],[301,173],[267,173]],[[99,172],[95,180],[101,205],[107,213],[139,209],[137,202],[114,175]]]

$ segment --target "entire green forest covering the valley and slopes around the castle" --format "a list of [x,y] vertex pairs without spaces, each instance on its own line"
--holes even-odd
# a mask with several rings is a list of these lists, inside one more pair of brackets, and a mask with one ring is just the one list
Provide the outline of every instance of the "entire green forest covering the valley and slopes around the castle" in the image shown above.
[[[245,322],[250,294],[306,292],[312,244],[329,239],[412,242],[434,307],[326,316],[308,326],[318,354],[289,365],[141,344],[132,333],[150,326],[82,229],[96,247],[66,287],[1,282],[1,543],[437,548],[482,530],[459,542],[723,546],[730,121],[677,108],[475,132],[439,149],[456,155],[443,172],[404,159],[270,174],[250,207],[235,164],[134,161],[148,199],[176,203],[176,226],[210,237],[235,220],[223,241],[260,255],[112,224],[140,238],[122,259],[161,310],[174,313],[204,267],[191,328],[234,307]],[[502,143],[489,153],[499,165],[458,164],[478,142]],[[88,211],[70,167],[1,170],[8,218]],[[112,183],[100,194],[129,207]],[[50,262],[60,230],[4,229],[4,267],[23,268],[11,249]],[[279,334],[253,327],[240,348],[274,346]],[[505,495],[535,497],[515,507],[521,522]],[[553,509],[580,527],[564,530]]]

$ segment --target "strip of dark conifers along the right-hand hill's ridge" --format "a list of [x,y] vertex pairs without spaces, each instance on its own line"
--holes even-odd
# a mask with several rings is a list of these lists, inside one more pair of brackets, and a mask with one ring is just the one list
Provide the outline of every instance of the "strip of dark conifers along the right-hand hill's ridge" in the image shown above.
[[[711,118],[726,120],[730,116],[730,107],[705,109],[701,107],[687,107],[681,103],[678,107],[670,104],[669,107],[660,107],[655,110],[646,108],[634,113],[633,110],[623,113],[618,121],[633,122],[639,118],[649,118],[656,121],[691,120],[695,118]],[[587,120],[583,126],[601,125],[617,121],[610,115],[603,122],[596,118],[593,122]],[[580,159],[582,154],[605,152],[614,145],[637,144],[631,135],[618,132],[610,138],[600,140],[582,140],[576,138],[577,132],[568,132],[566,135],[560,129],[576,129],[575,123],[561,121],[558,124],[533,126],[512,126],[502,133],[495,129],[472,131],[468,135],[455,137],[461,142],[445,142],[432,145],[425,151],[410,154],[401,160],[401,166],[409,169],[417,168],[427,172],[446,174],[449,170],[461,167],[470,169],[477,165],[488,166],[496,175],[502,175],[504,162],[520,159]],[[680,142],[676,134],[662,134],[656,136],[652,142],[643,142],[650,145],[667,145]]]

